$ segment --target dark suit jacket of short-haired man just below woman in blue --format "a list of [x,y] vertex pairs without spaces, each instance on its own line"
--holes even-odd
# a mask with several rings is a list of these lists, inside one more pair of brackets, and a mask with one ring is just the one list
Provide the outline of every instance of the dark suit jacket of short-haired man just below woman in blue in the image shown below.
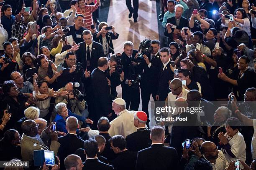
[[[68,133],[66,136],[61,136],[58,138],[58,142],[61,144],[58,151],[58,157],[61,165],[64,165],[64,159],[70,155],[74,154],[77,149],[84,148],[84,140]],[[61,170],[64,170],[65,167],[61,166]]]

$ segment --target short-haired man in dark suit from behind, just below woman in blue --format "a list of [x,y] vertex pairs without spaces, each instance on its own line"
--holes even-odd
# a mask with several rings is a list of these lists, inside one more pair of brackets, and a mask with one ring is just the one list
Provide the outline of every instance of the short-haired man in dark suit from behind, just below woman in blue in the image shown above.
[[[68,134],[58,138],[58,142],[61,144],[58,151],[58,157],[61,165],[64,165],[64,159],[67,155],[74,154],[77,149],[84,147],[84,140],[77,137],[76,130],[79,128],[78,120],[74,116],[70,116],[66,120],[66,128]],[[70,145],[75,144],[75,145]],[[60,170],[65,170],[64,166],[61,166]]]

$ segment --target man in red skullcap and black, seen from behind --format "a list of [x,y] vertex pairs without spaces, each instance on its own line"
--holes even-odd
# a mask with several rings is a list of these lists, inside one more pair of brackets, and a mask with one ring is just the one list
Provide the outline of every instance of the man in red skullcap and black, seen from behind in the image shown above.
[[146,128],[147,120],[148,117],[143,111],[138,111],[134,115],[134,126],[137,127],[137,131],[125,138],[128,150],[138,152],[150,147],[151,139],[149,137],[150,130]]

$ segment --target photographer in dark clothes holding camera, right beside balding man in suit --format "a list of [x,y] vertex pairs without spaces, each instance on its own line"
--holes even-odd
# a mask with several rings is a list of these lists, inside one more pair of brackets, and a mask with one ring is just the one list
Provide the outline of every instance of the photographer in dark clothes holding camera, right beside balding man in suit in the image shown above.
[[108,65],[107,77],[110,80],[110,95],[114,100],[118,93],[116,87],[121,84],[124,79],[123,66],[121,65],[121,54],[117,53],[110,56],[110,61]]

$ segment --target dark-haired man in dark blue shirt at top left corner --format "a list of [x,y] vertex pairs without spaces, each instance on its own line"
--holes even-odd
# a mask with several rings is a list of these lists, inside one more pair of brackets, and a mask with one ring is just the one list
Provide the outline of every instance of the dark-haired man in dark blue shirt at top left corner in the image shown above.
[[8,32],[8,39],[11,37],[11,30],[13,23],[15,21],[15,16],[12,15],[12,7],[10,5],[4,5],[2,7],[3,10],[3,17],[1,18],[2,20],[2,25],[3,28]]

